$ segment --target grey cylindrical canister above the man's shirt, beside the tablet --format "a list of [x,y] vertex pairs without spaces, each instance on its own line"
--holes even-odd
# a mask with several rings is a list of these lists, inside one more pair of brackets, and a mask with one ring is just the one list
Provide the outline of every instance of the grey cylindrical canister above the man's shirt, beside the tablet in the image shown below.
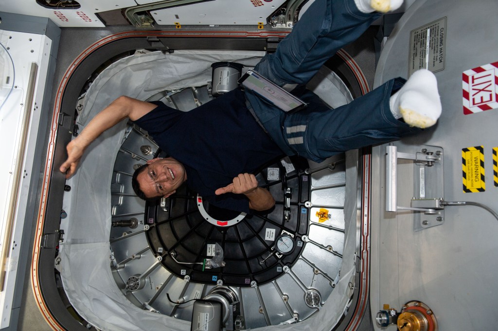
[[243,67],[243,65],[235,62],[213,63],[211,65],[211,68],[213,68],[211,94],[216,98],[235,89],[238,84],[237,81],[241,78]]

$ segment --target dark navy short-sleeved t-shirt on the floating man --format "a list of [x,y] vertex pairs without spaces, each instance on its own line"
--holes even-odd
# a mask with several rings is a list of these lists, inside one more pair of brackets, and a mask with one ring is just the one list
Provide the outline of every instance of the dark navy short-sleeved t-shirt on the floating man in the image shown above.
[[185,166],[187,185],[217,207],[249,212],[244,194],[217,196],[215,190],[283,152],[247,109],[244,92],[235,89],[188,112],[154,103],[158,106],[135,123]]

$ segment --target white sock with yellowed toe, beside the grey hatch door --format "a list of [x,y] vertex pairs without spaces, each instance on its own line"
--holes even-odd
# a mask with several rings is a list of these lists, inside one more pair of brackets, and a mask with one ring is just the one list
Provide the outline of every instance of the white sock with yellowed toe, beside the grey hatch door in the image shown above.
[[428,128],[441,115],[441,100],[433,73],[420,69],[389,99],[392,115],[403,118],[406,124]]

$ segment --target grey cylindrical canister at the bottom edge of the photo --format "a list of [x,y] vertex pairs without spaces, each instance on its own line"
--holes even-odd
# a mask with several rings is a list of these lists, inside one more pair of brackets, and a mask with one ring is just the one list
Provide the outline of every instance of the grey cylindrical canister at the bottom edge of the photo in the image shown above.
[[221,331],[222,306],[218,301],[196,300],[190,331]]

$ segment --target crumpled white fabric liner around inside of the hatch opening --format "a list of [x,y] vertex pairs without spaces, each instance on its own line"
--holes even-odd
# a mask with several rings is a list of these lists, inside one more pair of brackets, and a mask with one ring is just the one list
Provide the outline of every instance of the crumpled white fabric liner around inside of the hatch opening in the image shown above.
[[[121,95],[145,100],[165,89],[200,86],[211,81],[211,64],[233,61],[253,67],[263,55],[249,51],[175,51],[136,54],[115,62],[104,70],[87,91],[85,105],[77,119],[83,128],[88,121]],[[317,75],[320,76],[320,75]],[[327,75],[321,75],[320,77]],[[329,75],[330,76],[330,75]],[[322,77],[322,78],[323,78]],[[321,81],[319,78],[318,81]],[[317,94],[328,103],[352,99],[345,87],[337,88],[324,79]],[[326,84],[326,85],[324,85]],[[319,85],[317,82],[314,85]],[[325,87],[324,87],[325,86]],[[323,93],[325,92],[325,93]],[[111,177],[116,155],[124,137],[126,121],[102,134],[88,149],[76,174],[67,184],[63,209],[68,217],[61,222],[65,232],[60,245],[61,276],[67,296],[76,311],[102,330],[190,330],[190,322],[141,310],[118,288],[110,268]],[[347,158],[349,160],[351,158]],[[357,177],[356,163],[347,165],[349,181]],[[348,187],[356,188],[356,183]],[[324,307],[311,318],[293,325],[258,328],[258,331],[329,331],[346,310],[355,276],[356,191],[346,199],[346,241],[341,279]],[[353,234],[348,236],[348,233]],[[351,237],[351,238],[350,238]]]

